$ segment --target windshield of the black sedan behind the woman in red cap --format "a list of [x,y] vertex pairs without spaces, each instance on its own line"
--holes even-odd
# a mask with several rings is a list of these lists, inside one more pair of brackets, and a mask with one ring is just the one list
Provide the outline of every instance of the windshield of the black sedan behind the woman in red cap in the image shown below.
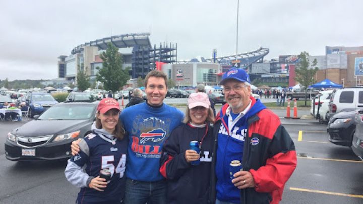
[[94,117],[96,104],[55,105],[39,116],[40,120],[86,120]]

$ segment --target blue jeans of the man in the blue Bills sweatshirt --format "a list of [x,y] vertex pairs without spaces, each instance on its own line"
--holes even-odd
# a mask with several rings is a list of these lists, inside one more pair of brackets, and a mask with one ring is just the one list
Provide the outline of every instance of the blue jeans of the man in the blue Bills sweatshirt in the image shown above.
[[124,204],[166,204],[166,181],[126,179]]

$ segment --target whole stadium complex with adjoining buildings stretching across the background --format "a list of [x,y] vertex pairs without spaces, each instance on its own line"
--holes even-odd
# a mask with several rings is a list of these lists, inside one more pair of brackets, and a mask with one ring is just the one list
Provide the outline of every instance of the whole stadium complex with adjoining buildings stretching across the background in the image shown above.
[[[249,74],[251,81],[258,80],[262,84],[283,83],[296,84],[295,65],[299,62],[298,55],[280,55],[279,59],[265,60],[269,48],[260,47],[256,50],[230,56],[217,56],[212,50],[211,58],[197,57],[187,61],[178,61],[177,43],[153,44],[150,33],[131,33],[115,35],[86,42],[74,47],[70,55],[58,57],[58,77],[75,81],[77,70],[83,70],[94,82],[97,67],[102,67],[100,54],[112,43],[123,55],[123,68],[131,67],[130,76],[135,79],[144,78],[146,74],[158,67],[169,79],[179,87],[196,86],[199,83],[218,85],[221,75],[230,67],[241,67]],[[356,58],[363,57],[363,47],[325,47],[325,55],[310,56],[312,62],[317,59],[319,71],[316,81],[326,78],[345,86],[360,84],[359,74],[355,71]],[[362,60],[363,61],[363,60]],[[356,81],[354,81],[356,80]],[[359,83],[358,83],[359,82]],[[129,86],[134,86],[129,84]]]

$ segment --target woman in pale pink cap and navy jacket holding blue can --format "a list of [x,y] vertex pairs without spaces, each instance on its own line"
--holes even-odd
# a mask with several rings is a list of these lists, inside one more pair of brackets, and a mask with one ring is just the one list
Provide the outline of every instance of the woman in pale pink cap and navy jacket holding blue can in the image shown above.
[[[185,124],[175,128],[163,146],[160,173],[168,180],[167,203],[208,203],[213,122],[208,95],[189,95]],[[191,142],[200,153],[191,150]]]

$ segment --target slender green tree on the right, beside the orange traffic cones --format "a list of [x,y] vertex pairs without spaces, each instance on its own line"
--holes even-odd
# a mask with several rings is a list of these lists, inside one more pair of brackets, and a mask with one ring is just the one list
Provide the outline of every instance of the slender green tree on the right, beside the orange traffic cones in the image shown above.
[[[299,62],[296,64],[296,77],[295,80],[300,83],[305,89],[305,96],[307,96],[308,86],[315,83],[314,75],[318,71],[317,60],[314,59],[312,64],[309,62],[309,53],[301,52],[299,55]],[[307,105],[307,97],[305,97],[305,106]]]

